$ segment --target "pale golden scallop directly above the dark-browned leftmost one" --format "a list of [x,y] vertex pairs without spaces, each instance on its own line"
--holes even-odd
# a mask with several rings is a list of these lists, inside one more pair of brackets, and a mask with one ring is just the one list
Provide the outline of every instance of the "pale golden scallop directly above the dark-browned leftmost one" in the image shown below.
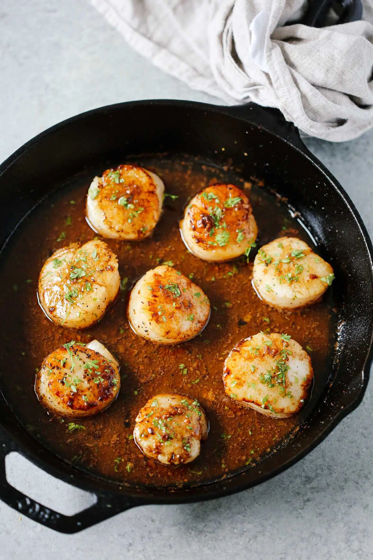
[[39,302],[57,325],[85,329],[100,321],[120,290],[116,255],[105,242],[63,247],[39,276]]

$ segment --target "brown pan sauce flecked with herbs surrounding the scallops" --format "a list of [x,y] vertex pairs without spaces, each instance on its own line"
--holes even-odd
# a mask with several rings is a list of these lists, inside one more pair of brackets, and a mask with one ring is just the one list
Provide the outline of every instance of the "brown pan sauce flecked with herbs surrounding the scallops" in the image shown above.
[[[102,321],[76,332],[51,323],[37,304],[39,272],[54,250],[96,236],[84,217],[93,174],[73,179],[31,212],[13,234],[0,263],[1,313],[4,329],[1,388],[22,424],[55,454],[100,477],[121,484],[190,486],[229,476],[256,464],[296,431],[300,416],[274,419],[243,408],[224,393],[223,363],[242,338],[259,330],[291,334],[310,353],[315,371],[313,395],[301,416],[313,407],[328,380],[336,339],[336,312],[331,290],[311,307],[279,311],[253,290],[252,262],[216,264],[190,254],[178,221],[193,195],[216,181],[235,183],[247,192],[258,224],[258,247],[281,235],[298,236],[313,246],[284,202],[256,178],[195,162],[141,160],[166,185],[164,212],[153,237],[141,242],[105,239],[117,255],[122,282],[119,299]],[[103,169],[102,169],[103,171]],[[268,185],[270,186],[270,185]],[[100,239],[102,239],[100,237]],[[318,250],[317,248],[315,249]],[[211,318],[199,337],[174,347],[157,346],[138,337],[126,320],[128,290],[150,268],[163,262],[189,276],[209,296]],[[79,420],[84,430],[68,430],[68,418],[49,416],[34,392],[35,369],[44,357],[70,340],[97,338],[121,364],[121,389],[114,404],[92,419]],[[183,364],[183,367],[180,367]],[[166,466],[145,458],[133,440],[135,417],[157,393],[196,398],[210,421],[199,458],[185,466]]]

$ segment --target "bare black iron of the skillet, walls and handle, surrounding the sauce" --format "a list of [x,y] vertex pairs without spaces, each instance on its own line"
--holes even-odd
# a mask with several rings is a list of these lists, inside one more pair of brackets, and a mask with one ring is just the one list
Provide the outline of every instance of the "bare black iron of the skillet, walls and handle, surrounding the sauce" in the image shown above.
[[[261,464],[220,482],[174,492],[119,488],[65,463],[21,426],[0,396],[0,498],[23,515],[64,533],[82,530],[130,507],[207,500],[273,477],[317,446],[360,404],[369,377],[371,241],[341,185],[277,110],[257,105],[226,108],[185,101],[139,101],[96,109],[57,124],[0,167],[1,246],[43,197],[84,166],[100,164],[106,169],[127,156],[159,152],[173,157],[188,154],[219,166],[232,160],[242,176],[254,174],[264,179],[300,213],[337,278],[338,347],[330,382],[294,440]],[[10,451],[19,451],[55,477],[95,493],[96,504],[65,516],[26,497],[6,480],[4,460]]]

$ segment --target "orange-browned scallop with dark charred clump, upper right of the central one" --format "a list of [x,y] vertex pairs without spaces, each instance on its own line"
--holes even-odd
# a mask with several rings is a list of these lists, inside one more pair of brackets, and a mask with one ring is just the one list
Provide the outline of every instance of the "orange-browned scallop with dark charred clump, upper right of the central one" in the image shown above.
[[258,234],[248,197],[224,184],[207,186],[192,198],[180,230],[191,253],[218,262],[248,254]]

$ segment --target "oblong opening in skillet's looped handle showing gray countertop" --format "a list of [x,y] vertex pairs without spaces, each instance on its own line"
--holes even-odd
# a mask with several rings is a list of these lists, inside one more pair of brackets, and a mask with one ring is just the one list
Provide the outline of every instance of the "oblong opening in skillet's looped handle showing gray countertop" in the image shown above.
[[13,488],[60,514],[75,515],[97,502],[95,494],[52,477],[16,451],[6,456],[5,469]]

